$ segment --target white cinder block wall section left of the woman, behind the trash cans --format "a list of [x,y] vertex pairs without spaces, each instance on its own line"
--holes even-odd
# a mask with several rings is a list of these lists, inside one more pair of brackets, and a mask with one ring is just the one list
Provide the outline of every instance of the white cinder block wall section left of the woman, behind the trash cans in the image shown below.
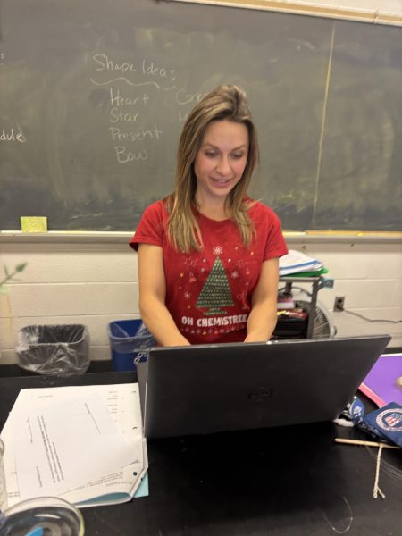
[[3,244],[0,264],[27,262],[0,295],[1,362],[17,360],[18,331],[30,324],[83,323],[91,359],[109,359],[107,324],[138,318],[137,258],[127,244]]

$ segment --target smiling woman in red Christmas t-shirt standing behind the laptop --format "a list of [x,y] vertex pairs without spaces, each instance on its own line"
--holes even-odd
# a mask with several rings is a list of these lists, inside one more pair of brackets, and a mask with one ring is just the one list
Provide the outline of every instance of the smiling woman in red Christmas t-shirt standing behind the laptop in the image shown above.
[[216,88],[188,115],[174,192],[147,207],[130,240],[140,314],[160,345],[271,337],[288,250],[278,216],[247,197],[257,161],[246,94]]

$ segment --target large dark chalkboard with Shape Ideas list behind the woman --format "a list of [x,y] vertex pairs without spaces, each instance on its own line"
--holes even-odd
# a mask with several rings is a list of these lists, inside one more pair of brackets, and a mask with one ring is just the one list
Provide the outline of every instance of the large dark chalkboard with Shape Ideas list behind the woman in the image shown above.
[[247,90],[285,230],[402,230],[402,32],[154,0],[1,4],[0,229],[134,230],[190,108]]

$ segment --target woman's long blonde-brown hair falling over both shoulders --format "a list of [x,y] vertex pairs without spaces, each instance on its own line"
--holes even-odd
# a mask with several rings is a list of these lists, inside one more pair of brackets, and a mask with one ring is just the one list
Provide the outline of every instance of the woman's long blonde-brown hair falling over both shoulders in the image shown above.
[[205,130],[211,121],[235,121],[247,126],[248,155],[243,175],[230,190],[226,209],[236,222],[245,246],[249,246],[254,233],[253,222],[247,214],[250,200],[247,188],[258,162],[258,140],[246,93],[234,85],[219,86],[206,95],[189,113],[181,132],[176,185],[171,196],[165,199],[169,212],[168,235],[174,247],[188,253],[202,249],[202,238],[194,214],[197,178],[194,161],[201,147]]

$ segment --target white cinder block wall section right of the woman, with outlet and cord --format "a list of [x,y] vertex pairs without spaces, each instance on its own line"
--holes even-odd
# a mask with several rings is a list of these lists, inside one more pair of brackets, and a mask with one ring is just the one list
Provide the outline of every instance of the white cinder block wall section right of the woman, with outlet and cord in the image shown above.
[[[329,269],[333,289],[322,289],[318,299],[330,312],[338,336],[389,333],[389,346],[402,346],[402,247],[381,243],[289,244],[316,256]],[[367,322],[348,313],[334,313],[335,297],[345,297],[345,309],[373,320]]]

